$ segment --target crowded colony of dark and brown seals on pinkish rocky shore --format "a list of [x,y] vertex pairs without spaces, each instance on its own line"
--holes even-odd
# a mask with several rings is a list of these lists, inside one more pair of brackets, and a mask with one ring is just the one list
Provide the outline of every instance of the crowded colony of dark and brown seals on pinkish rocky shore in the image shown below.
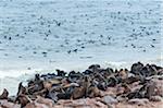
[[0,95],[0,108],[161,108],[163,68],[134,63],[130,70],[92,64],[84,72],[35,74],[16,96]]

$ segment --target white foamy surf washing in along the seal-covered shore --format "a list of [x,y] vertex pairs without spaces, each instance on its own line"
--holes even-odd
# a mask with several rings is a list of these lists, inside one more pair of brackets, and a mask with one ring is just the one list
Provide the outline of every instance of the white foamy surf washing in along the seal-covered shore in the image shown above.
[[[148,63],[149,61],[143,61],[142,63]],[[95,62],[97,63],[97,62]],[[130,65],[134,62],[103,62],[103,63],[99,63],[101,67],[106,68],[110,67],[112,69],[121,69],[121,68],[126,68],[128,70],[130,70]],[[150,64],[156,64],[160,67],[163,67],[162,61],[155,62],[155,61],[151,61],[149,62]],[[10,82],[14,82],[15,85],[18,85],[20,82],[25,82],[28,79],[34,77],[35,74],[39,73],[39,74],[48,74],[48,73],[53,73],[55,72],[55,69],[60,69],[60,70],[64,70],[66,72],[71,72],[72,70],[74,71],[85,71],[86,67],[89,67],[90,64],[92,64],[91,62],[85,63],[85,64],[80,64],[78,63],[78,65],[74,65],[71,64],[73,67],[67,67],[66,63],[63,64],[62,67],[55,67],[55,68],[48,68],[46,70],[41,70],[41,69],[30,69],[30,70],[12,70],[12,71],[0,71],[0,92],[3,91],[4,87],[7,87],[9,89],[9,92],[11,93],[11,95],[15,95],[15,91],[16,88],[14,88],[13,84],[10,84]],[[65,68],[66,65],[66,68]],[[4,74],[5,73],[5,74]],[[13,73],[13,74],[11,74]],[[15,75],[15,76],[13,76]],[[7,84],[2,84],[2,83],[7,83]]]

